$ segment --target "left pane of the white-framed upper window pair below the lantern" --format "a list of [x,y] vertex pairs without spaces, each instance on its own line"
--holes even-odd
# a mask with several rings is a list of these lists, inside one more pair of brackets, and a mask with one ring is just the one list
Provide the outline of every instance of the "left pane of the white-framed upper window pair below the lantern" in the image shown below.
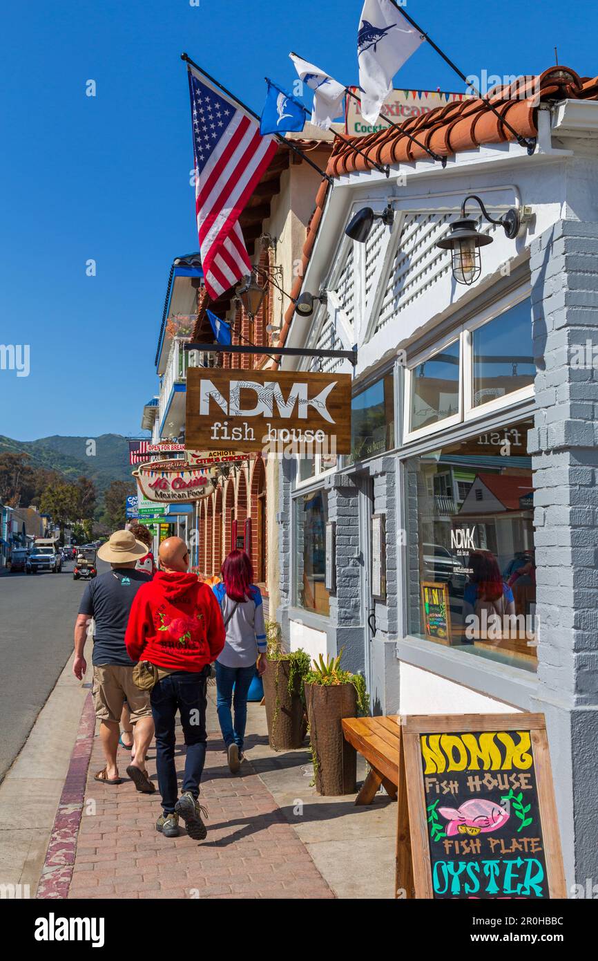
[[420,431],[459,413],[461,342],[428,357],[411,371],[410,431]]

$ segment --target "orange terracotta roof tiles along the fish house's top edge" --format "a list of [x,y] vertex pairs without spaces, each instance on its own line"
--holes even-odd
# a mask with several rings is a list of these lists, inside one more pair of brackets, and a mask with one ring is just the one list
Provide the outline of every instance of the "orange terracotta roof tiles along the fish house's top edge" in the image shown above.
[[[537,108],[539,102],[555,100],[598,100],[598,77],[582,78],[564,66],[553,66],[538,77],[520,78],[509,86],[496,86],[488,95],[500,117],[479,98],[437,107],[419,117],[405,121],[403,130],[388,127],[376,134],[338,137],[328,163],[328,173],[340,177],[347,173],[371,170],[375,163],[400,163],[425,158],[424,147],[448,157],[462,150],[472,150],[483,143],[502,143],[514,140],[506,121],[519,136],[538,134]],[[422,146],[413,143],[403,133],[416,136]],[[351,150],[351,141],[359,143],[367,158]]]

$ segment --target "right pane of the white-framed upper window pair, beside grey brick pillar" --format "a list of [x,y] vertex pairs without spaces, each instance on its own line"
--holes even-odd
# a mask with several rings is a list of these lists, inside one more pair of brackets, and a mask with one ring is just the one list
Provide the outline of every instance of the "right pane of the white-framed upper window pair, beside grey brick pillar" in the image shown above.
[[521,301],[471,334],[473,407],[534,383],[530,301]]

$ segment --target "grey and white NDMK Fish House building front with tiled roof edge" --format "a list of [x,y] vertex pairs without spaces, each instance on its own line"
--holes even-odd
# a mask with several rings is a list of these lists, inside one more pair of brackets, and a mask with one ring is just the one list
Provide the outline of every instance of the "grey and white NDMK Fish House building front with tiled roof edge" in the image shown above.
[[[351,453],[283,461],[278,505],[292,649],[343,650],[374,713],[544,713],[570,885],[598,876],[596,97],[566,68],[503,91],[532,156],[479,101],[414,122],[445,169],[395,130],[359,140],[388,179],[335,149],[300,282],[326,296],[307,333],[289,311],[286,342],[357,345],[354,370],[296,365],[353,374]],[[480,216],[463,285],[437,243],[471,194],[521,228]]]

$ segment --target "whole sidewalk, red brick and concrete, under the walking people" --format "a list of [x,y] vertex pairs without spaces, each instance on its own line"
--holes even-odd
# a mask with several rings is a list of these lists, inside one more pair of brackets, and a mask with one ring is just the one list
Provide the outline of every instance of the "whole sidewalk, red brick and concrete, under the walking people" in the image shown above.
[[[62,832],[73,824],[67,802],[63,809],[70,821],[59,824],[49,849],[54,865],[65,867],[53,868],[46,860],[37,897],[65,897],[68,891],[76,899],[392,898],[396,805],[382,795],[369,808],[356,808],[352,796],[319,798],[309,787],[309,752],[270,751],[259,704],[249,705],[248,731],[254,732],[248,737],[249,760],[231,776],[214,699],[210,685],[201,796],[209,814],[205,841],[158,834],[157,793],[138,794],[130,781],[117,787],[94,781],[104,767],[96,735],[84,799],[81,781],[76,856]],[[179,771],[183,750],[177,752]],[[120,752],[123,775],[128,757]],[[73,801],[81,773],[81,759],[76,760],[67,801]],[[155,780],[154,746],[148,769]]]

